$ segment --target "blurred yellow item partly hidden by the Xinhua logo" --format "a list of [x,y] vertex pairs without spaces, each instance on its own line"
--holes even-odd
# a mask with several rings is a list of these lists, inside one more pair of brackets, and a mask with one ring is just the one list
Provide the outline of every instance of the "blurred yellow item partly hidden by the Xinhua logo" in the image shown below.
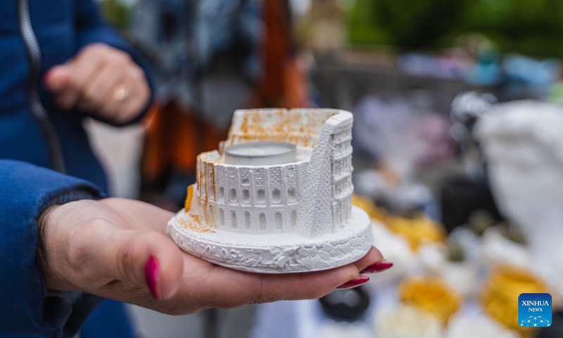
[[530,333],[530,328],[518,324],[518,296],[544,292],[548,292],[547,286],[528,270],[498,266],[483,285],[481,303],[491,317],[526,335]]

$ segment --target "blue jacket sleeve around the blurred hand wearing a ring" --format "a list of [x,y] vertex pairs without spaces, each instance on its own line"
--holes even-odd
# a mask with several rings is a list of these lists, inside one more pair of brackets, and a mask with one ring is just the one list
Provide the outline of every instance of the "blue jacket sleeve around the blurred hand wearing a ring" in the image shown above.
[[[139,51],[135,50],[130,44],[125,42],[118,32],[116,32],[113,27],[110,27],[110,25],[103,20],[99,7],[94,1],[76,0],[76,11],[76,28],[79,49],[94,43],[107,44],[108,46],[125,51],[144,70],[146,79],[148,80],[148,86],[151,87],[151,99],[148,100],[148,104],[133,120],[120,125],[115,123],[110,124],[122,126],[139,122],[139,120],[141,120],[144,114],[148,111],[148,108],[151,106],[154,99],[155,82],[148,62],[139,53]],[[103,122],[108,123],[108,121]]]

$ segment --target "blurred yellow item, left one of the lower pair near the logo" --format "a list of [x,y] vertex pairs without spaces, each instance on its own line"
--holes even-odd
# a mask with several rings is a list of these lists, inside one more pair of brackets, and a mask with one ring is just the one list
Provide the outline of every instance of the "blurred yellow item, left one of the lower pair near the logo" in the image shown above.
[[460,307],[460,296],[436,277],[410,277],[400,283],[399,298],[403,303],[422,308],[436,315],[443,324]]

